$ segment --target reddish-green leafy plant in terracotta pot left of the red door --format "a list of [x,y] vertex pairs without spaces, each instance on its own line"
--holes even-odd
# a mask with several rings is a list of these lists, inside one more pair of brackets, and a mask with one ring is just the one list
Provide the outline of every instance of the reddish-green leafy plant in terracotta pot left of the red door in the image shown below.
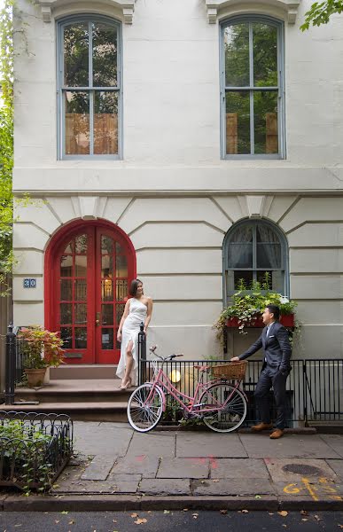
[[29,387],[42,386],[47,367],[63,363],[63,340],[58,332],[51,332],[40,326],[22,328],[23,367]]

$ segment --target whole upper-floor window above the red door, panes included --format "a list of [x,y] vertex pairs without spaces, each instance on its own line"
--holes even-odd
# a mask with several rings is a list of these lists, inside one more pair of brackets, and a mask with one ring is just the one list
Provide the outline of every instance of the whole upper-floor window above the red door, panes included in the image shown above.
[[59,21],[59,158],[118,159],[120,111],[120,23],[90,15]]

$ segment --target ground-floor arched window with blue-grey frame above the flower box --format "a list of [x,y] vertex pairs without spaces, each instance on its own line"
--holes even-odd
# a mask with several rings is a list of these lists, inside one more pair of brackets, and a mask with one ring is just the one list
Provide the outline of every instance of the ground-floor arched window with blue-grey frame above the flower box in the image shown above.
[[223,245],[225,296],[229,300],[240,279],[247,287],[262,282],[269,272],[269,288],[288,293],[288,248],[284,234],[266,220],[245,220],[228,231]]

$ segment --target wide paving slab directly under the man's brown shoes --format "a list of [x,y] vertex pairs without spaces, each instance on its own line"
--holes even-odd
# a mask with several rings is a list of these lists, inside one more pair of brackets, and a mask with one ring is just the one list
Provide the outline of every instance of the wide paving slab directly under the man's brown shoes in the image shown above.
[[249,458],[340,458],[320,436],[292,434],[270,440],[269,434],[241,434]]

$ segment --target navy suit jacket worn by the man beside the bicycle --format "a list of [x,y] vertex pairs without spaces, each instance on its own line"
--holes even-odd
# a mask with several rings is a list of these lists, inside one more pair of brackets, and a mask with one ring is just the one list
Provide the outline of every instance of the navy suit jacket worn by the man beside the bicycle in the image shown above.
[[264,356],[269,366],[276,368],[276,370],[282,373],[290,372],[292,347],[288,338],[287,329],[285,329],[284,325],[281,325],[278,321],[274,322],[270,326],[268,337],[267,327],[264,327],[260,338],[245,353],[240,355],[239,359],[244,360],[261,348],[263,348]]

